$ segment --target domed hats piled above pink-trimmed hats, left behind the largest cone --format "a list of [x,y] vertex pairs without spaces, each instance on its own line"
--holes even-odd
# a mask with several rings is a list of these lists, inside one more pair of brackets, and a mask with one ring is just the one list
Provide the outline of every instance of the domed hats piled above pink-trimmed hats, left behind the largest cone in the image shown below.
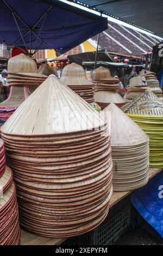
[[36,62],[19,54],[8,62],[8,85],[10,94],[7,100],[0,104],[0,125],[2,125],[15,109],[34,92],[47,76],[37,72]]

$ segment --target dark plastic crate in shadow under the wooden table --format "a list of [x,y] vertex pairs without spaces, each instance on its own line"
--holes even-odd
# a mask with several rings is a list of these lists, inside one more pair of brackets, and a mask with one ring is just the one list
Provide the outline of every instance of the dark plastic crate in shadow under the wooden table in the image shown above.
[[130,225],[130,197],[126,197],[114,205],[108,217],[97,228],[89,233],[68,239],[69,245],[111,245]]

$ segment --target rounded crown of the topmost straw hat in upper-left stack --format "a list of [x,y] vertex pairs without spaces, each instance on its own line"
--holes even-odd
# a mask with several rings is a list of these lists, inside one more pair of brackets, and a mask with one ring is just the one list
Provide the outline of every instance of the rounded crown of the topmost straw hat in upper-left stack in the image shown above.
[[37,72],[35,60],[21,53],[9,59],[8,72]]

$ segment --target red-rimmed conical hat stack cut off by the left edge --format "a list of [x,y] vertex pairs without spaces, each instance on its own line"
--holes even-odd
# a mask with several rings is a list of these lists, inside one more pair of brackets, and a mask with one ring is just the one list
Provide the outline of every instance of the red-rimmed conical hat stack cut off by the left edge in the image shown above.
[[0,245],[20,244],[18,206],[12,170],[5,165],[4,143],[0,140]]

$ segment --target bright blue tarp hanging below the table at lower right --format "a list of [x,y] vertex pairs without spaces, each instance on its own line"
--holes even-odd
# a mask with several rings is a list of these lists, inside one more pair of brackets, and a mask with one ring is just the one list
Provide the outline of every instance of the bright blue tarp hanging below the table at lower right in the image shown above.
[[149,180],[146,186],[131,193],[131,203],[163,238],[163,172]]

